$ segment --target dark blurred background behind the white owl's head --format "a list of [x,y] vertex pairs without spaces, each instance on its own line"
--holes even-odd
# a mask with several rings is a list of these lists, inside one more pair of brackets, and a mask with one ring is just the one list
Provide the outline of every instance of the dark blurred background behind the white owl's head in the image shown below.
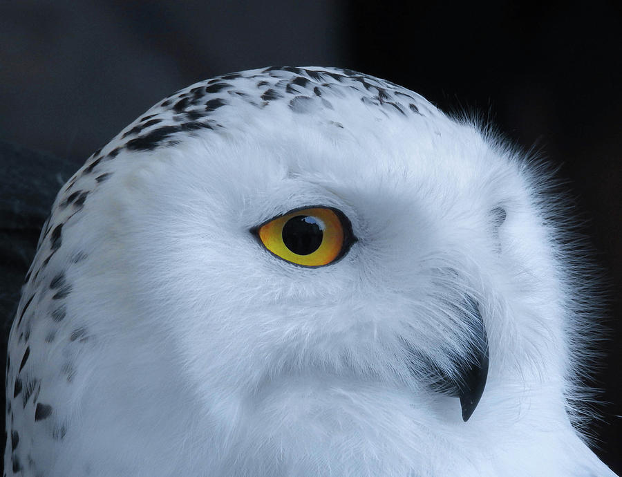
[[[345,66],[480,111],[569,181],[611,297],[594,386],[622,473],[622,2],[54,0],[0,5],[5,333],[57,189],[162,97],[261,66]],[[4,346],[6,346],[6,338]],[[4,359],[4,351],[0,351]]]

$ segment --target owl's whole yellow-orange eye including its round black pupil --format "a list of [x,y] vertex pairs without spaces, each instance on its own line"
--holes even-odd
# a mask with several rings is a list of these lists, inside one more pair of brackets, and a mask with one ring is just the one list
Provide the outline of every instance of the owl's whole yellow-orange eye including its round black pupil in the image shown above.
[[296,209],[251,230],[272,254],[305,267],[341,259],[352,243],[352,225],[332,207]]

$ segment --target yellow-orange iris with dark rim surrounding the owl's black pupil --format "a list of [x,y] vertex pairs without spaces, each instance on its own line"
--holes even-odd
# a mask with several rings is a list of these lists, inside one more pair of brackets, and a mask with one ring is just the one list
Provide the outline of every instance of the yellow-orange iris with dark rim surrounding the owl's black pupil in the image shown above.
[[[301,215],[317,218],[324,225],[320,246],[308,255],[296,254],[283,243],[283,227],[290,218]],[[352,234],[352,225],[343,212],[321,205],[291,210],[282,216],[276,216],[270,221],[254,227],[251,232],[273,255],[303,267],[330,265],[330,263],[341,259],[348,252],[352,243],[356,241]]]

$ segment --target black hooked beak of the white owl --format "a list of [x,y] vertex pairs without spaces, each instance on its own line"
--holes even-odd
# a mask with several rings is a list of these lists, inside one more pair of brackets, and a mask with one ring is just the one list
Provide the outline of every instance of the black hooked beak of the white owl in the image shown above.
[[471,360],[462,366],[458,380],[455,381],[455,395],[460,397],[464,422],[469,420],[480,402],[486,386],[489,364],[488,339],[478,303],[469,296],[466,297],[466,303],[471,308],[473,317],[470,320],[473,331]]

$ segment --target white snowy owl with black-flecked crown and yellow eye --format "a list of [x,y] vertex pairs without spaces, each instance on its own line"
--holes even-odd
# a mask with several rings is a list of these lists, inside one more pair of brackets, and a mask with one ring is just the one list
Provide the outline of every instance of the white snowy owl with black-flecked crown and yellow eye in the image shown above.
[[41,232],[6,474],[613,476],[576,430],[596,303],[549,185],[355,71],[167,97]]

